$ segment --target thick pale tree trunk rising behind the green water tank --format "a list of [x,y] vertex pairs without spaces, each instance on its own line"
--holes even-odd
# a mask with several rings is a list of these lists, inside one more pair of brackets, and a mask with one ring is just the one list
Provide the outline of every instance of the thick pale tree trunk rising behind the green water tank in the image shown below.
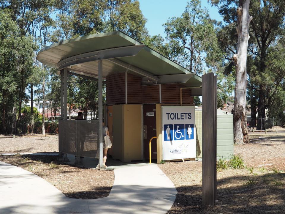
[[240,0],[238,14],[238,50],[233,56],[236,66],[235,102],[234,102],[234,143],[249,143],[246,119],[246,55],[248,47],[248,26],[252,20],[249,15],[250,0]]

